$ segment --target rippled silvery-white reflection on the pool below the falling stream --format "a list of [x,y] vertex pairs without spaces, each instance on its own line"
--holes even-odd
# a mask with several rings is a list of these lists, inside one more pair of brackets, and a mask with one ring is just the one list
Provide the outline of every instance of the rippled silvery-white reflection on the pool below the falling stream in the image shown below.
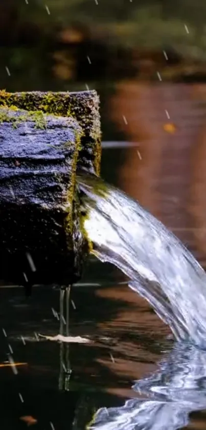
[[146,398],[122,407],[101,408],[89,428],[98,430],[176,430],[189,413],[206,408],[206,352],[177,343],[159,371],[135,381],[133,390]]

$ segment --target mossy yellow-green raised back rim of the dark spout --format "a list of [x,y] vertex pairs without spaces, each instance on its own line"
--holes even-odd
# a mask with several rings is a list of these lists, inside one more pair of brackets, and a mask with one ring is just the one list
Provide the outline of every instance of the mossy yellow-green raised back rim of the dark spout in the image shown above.
[[82,127],[78,167],[100,173],[101,131],[99,96],[95,90],[82,92],[0,91],[0,106],[27,111],[42,111],[60,116],[73,116]]

